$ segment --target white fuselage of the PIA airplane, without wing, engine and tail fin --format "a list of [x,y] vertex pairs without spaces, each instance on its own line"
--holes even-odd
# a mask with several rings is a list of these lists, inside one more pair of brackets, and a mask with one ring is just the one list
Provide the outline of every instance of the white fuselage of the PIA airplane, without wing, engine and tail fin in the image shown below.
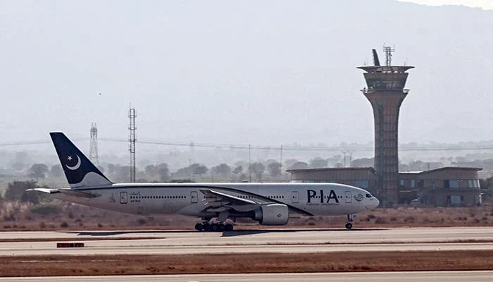
[[357,214],[367,209],[368,200],[366,190],[336,183],[116,183],[74,189],[99,197],[89,199],[63,193],[56,197],[125,214],[204,216],[201,211],[206,202],[201,188],[249,200],[258,200],[256,195],[260,195],[271,202],[287,204],[290,214]]

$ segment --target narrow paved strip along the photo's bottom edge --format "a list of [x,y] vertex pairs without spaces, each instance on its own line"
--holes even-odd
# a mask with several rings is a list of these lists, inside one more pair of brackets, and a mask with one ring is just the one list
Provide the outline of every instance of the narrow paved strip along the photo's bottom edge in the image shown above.
[[493,281],[493,271],[403,271],[403,272],[344,272],[344,273],[302,273],[302,274],[187,274],[187,275],[132,275],[132,276],[61,276],[61,277],[20,277],[0,278],[1,282],[46,282],[46,281],[123,281],[138,282],[175,281],[175,282],[373,282],[373,281]]

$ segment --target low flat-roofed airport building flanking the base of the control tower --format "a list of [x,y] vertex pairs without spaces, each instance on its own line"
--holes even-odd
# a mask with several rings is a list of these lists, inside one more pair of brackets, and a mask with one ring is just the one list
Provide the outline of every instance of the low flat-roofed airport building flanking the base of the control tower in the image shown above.
[[[481,168],[447,166],[429,171],[399,173],[396,190],[398,204],[429,206],[473,206],[481,203]],[[353,185],[383,197],[378,173],[373,168],[304,168],[289,169],[297,183],[333,182]]]

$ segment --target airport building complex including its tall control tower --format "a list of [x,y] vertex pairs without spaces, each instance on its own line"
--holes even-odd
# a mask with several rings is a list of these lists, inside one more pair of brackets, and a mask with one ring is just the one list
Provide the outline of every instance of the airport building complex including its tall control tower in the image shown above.
[[335,182],[364,188],[382,207],[418,203],[435,206],[475,205],[481,202],[481,168],[444,167],[399,173],[399,109],[409,90],[404,89],[409,69],[392,66],[391,47],[384,47],[385,66],[373,49],[373,65],[360,66],[366,80],[361,90],[373,109],[375,158],[373,168],[291,169],[293,182]]

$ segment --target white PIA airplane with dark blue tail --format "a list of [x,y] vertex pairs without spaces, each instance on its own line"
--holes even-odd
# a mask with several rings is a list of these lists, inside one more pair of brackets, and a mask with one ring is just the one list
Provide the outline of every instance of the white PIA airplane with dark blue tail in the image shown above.
[[237,218],[264,226],[299,216],[347,215],[380,202],[370,192],[337,183],[113,183],[63,133],[50,133],[70,188],[34,188],[60,200],[123,214],[201,218],[197,231],[232,231]]

